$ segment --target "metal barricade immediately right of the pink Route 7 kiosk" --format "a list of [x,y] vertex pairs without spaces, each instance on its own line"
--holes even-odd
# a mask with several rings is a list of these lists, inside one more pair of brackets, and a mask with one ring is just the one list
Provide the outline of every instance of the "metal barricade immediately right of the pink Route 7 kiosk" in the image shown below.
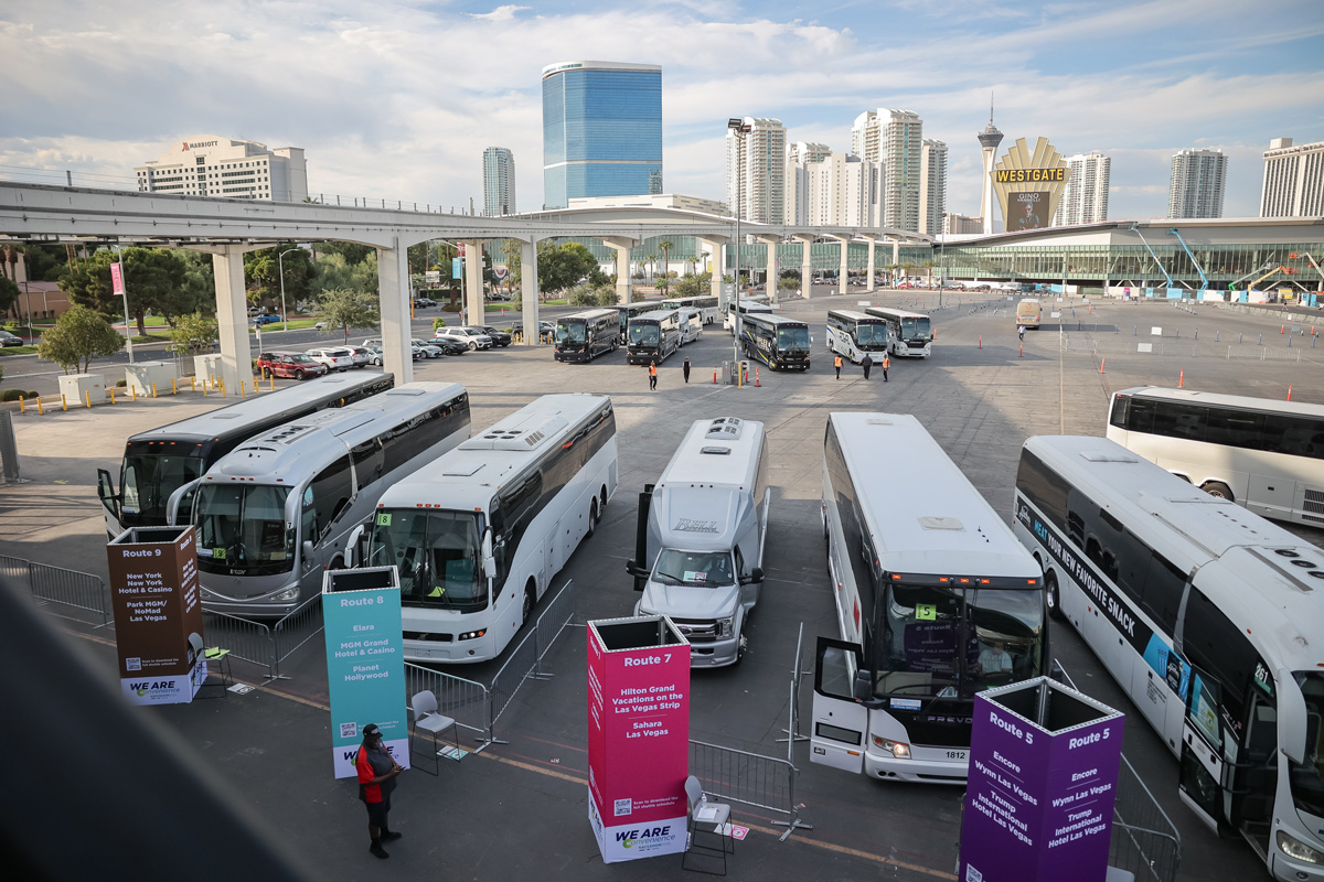
[[780,837],[782,842],[797,829],[813,829],[800,820],[796,767],[785,759],[691,741],[690,774],[719,801],[744,803],[784,815],[785,821],[773,821],[786,828]]

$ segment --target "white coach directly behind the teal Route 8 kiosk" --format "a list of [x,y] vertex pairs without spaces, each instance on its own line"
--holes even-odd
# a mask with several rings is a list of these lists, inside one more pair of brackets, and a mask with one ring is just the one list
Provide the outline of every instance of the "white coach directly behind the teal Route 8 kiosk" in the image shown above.
[[494,659],[616,493],[606,395],[543,395],[396,483],[367,566],[396,566],[405,659]]

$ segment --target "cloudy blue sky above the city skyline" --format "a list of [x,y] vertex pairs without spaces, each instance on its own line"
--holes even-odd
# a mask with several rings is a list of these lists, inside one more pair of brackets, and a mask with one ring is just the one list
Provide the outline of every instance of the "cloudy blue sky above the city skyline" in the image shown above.
[[0,177],[132,189],[211,134],[302,147],[314,193],[482,210],[500,145],[531,210],[542,69],[575,60],[662,66],[665,190],[711,198],[730,116],[849,151],[861,112],[914,110],[963,214],[990,93],[1004,151],[1042,135],[1112,157],[1113,220],[1165,216],[1192,147],[1229,155],[1223,214],[1256,216],[1270,139],[1324,140],[1321,0],[8,0]]

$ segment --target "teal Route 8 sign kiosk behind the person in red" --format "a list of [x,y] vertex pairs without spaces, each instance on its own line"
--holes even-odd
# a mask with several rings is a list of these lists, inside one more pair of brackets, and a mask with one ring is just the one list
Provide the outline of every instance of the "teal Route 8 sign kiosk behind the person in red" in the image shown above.
[[357,774],[363,727],[377,723],[387,752],[409,768],[400,575],[393,566],[327,570],[322,621],[331,694],[335,776]]

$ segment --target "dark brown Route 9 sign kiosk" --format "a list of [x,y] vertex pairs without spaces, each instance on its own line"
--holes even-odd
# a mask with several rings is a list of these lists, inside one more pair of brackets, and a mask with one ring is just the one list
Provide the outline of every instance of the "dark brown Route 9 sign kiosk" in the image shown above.
[[192,702],[207,680],[193,528],[127,529],[106,546],[106,565],[124,697],[135,705]]

